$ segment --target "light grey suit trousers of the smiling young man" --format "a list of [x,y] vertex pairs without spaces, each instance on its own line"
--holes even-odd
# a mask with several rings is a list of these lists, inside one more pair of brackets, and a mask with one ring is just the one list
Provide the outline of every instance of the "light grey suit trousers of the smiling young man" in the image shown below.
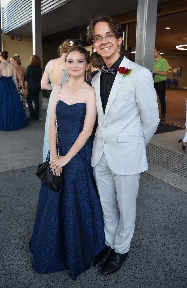
[[117,253],[127,253],[133,237],[136,218],[136,197],[140,173],[116,175],[103,153],[93,167],[103,210],[105,244]]

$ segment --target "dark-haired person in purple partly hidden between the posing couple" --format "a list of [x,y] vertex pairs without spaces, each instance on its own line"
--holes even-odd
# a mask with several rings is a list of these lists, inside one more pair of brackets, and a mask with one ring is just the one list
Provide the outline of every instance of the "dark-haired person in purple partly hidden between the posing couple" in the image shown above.
[[103,58],[97,52],[91,53],[90,56],[90,67],[91,67],[91,75],[87,81],[87,83],[91,86],[92,78],[100,71],[104,65]]

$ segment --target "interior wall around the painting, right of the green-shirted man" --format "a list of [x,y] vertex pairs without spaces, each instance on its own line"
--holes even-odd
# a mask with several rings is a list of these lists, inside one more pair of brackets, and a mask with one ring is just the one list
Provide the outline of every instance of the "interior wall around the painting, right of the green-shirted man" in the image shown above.
[[181,77],[173,76],[173,71],[171,73],[167,72],[166,77],[170,79],[170,82],[173,78],[177,80],[176,88],[187,89],[187,56],[168,56],[164,58],[167,59],[169,66],[172,66],[172,70],[173,67],[182,67]]

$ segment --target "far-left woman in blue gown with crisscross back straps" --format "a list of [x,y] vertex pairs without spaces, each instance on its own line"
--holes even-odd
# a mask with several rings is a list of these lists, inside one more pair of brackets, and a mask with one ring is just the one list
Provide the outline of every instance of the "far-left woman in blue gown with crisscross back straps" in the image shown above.
[[18,94],[16,67],[8,63],[7,58],[8,51],[2,51],[0,53],[0,130],[14,131],[28,126],[28,120]]

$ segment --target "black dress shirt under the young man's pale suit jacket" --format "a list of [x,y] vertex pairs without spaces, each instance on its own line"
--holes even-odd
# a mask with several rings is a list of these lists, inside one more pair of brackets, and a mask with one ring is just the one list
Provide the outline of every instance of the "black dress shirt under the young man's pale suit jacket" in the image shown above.
[[[116,62],[109,67],[110,69],[114,69],[117,73],[117,68],[119,68],[119,65],[121,61],[123,60],[123,55],[120,55],[120,57],[116,60]],[[106,64],[104,64],[104,69],[108,70],[109,69]],[[109,74],[109,73],[101,73],[100,76],[100,95],[101,95],[101,102],[103,106],[103,112],[105,113],[106,109],[106,104],[108,102],[108,97],[110,95],[110,91],[112,89],[112,85],[114,83],[116,75],[114,74]]]

